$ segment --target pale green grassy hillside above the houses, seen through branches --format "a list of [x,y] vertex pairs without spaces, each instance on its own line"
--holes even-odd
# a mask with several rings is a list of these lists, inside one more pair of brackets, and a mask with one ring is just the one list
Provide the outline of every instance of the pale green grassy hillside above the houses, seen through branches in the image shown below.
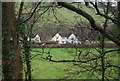
[[[18,10],[19,10],[19,7],[17,6],[17,4],[19,4],[19,3],[16,3],[16,13],[18,13]],[[49,6],[49,5],[51,5],[51,3],[41,3],[41,6],[42,5]],[[73,3],[73,5],[76,7],[78,6],[77,3]],[[33,5],[31,3],[25,3],[23,13],[28,13],[29,11],[32,11],[31,10],[32,7],[33,7]],[[95,19],[95,21],[97,21],[99,24],[102,24],[104,22],[104,18],[96,15],[96,12],[93,8],[86,7],[83,4],[79,4],[79,7],[81,9],[83,9],[85,12],[89,13]],[[36,17],[38,17],[45,10],[46,10],[46,8],[38,9],[37,12],[35,13]],[[100,10],[102,10],[102,9],[100,8]],[[36,24],[34,25],[34,28],[33,28],[33,32],[42,30],[42,28],[44,26],[49,25],[49,24],[52,24],[55,26],[63,26],[66,28],[72,28],[81,21],[87,22],[87,20],[85,18],[83,18],[82,16],[80,16],[80,15],[76,14],[75,12],[72,12],[66,8],[51,7],[36,22]],[[28,24],[30,25],[31,23],[28,22]]]

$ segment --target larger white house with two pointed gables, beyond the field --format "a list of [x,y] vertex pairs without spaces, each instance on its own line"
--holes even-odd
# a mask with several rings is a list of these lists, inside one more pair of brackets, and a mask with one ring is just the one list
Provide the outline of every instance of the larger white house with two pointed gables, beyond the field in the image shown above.
[[56,41],[58,44],[81,44],[81,42],[76,38],[74,34],[71,35],[63,35],[64,33],[60,34],[57,33],[51,41]]

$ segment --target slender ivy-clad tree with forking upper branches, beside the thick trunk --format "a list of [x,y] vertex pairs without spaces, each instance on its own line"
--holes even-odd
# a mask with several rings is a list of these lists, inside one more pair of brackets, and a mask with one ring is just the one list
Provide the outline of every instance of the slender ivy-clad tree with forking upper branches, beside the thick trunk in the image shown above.
[[[41,18],[41,16],[49,9],[45,9],[43,12],[39,13],[39,10],[41,8],[40,7],[41,2],[39,2],[38,4],[36,3],[31,3],[32,8],[31,11],[28,10],[27,13],[31,13],[28,14],[26,17],[26,15],[22,15],[21,18],[19,17],[20,14],[24,14],[21,13],[22,12],[22,7],[23,7],[23,2],[21,2],[20,4],[20,9],[19,9],[19,15],[18,15],[18,19],[20,22],[20,28],[19,28],[19,34],[22,38],[21,42],[22,42],[22,55],[23,55],[23,64],[24,64],[24,72],[25,72],[25,80],[26,81],[31,81],[32,80],[32,67],[31,67],[31,38],[32,38],[32,33],[33,33],[33,29],[34,27],[37,25],[37,21]],[[30,5],[29,5],[30,6]],[[27,8],[29,8],[29,6]],[[26,5],[24,5],[24,7],[26,8]],[[28,37],[29,37],[29,41],[28,41]]]

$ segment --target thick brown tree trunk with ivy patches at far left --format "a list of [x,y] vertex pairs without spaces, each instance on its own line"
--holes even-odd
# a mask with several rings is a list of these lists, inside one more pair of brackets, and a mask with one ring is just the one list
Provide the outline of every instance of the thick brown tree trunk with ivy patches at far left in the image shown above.
[[[3,79],[22,79],[22,58],[15,21],[14,2],[2,3],[2,69]],[[21,81],[21,80],[20,80]]]

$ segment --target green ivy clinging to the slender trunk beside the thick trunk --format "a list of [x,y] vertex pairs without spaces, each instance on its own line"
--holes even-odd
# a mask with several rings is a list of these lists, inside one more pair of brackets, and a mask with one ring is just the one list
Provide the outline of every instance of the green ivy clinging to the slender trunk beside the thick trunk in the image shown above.
[[[24,21],[24,17],[21,18],[21,21]],[[20,25],[20,36],[22,37],[22,55],[23,55],[23,63],[25,66],[25,79],[31,81],[31,42],[28,41],[29,29],[27,27],[28,23],[22,23]]]

